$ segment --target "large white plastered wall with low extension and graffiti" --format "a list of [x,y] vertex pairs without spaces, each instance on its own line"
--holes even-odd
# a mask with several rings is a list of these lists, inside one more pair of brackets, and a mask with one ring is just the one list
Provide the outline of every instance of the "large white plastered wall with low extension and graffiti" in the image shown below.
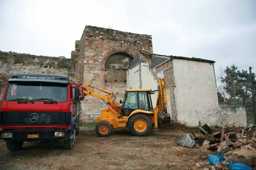
[[201,120],[202,124],[222,126],[240,121],[246,125],[246,116],[238,117],[219,107],[213,64],[173,59],[173,73],[177,120],[180,123],[198,126]]

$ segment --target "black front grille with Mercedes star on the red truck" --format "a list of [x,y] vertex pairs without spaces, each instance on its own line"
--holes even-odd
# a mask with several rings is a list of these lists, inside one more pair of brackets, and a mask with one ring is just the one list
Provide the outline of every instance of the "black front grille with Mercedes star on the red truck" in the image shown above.
[[2,125],[68,125],[70,122],[70,112],[1,112]]

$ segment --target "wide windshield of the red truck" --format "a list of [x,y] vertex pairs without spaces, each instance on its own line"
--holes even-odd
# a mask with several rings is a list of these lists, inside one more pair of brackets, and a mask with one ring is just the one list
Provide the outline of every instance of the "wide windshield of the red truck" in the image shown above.
[[[43,99],[67,101],[68,85],[52,82],[12,82],[8,85],[5,100]],[[35,100],[36,101],[36,100]]]

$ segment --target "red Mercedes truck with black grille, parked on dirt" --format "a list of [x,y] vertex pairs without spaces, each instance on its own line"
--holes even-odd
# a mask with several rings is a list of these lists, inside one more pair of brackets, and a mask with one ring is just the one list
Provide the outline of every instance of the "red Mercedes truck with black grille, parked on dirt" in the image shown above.
[[11,75],[0,112],[0,139],[8,150],[47,140],[64,140],[64,148],[72,149],[84,99],[79,86],[66,76]]

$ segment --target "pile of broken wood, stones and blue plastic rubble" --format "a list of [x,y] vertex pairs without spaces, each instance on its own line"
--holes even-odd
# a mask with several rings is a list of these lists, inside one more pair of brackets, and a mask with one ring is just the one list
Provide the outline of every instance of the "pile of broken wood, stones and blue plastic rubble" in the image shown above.
[[231,125],[219,129],[212,129],[207,124],[199,126],[199,136],[194,136],[194,139],[201,144],[200,149],[218,151],[217,155],[209,155],[209,164],[212,166],[208,169],[235,170],[243,167],[256,170],[256,125],[248,128]]

